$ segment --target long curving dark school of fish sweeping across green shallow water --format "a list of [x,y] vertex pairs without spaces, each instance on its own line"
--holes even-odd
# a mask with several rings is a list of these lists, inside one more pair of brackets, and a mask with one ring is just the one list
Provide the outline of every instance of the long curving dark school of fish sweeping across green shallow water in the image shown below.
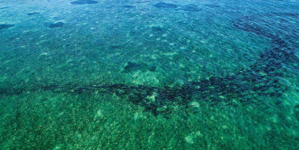
[[[0,93],[2,95],[15,95],[46,90],[76,94],[115,93],[120,97],[128,98],[135,105],[145,107],[147,111],[152,112],[155,116],[162,113],[165,118],[168,118],[167,113],[170,112],[170,107],[167,107],[166,110],[159,108],[176,104],[190,107],[190,102],[194,100],[206,101],[209,105],[219,103],[236,105],[234,101],[244,104],[257,104],[261,101],[255,99],[258,96],[280,97],[288,89],[288,86],[281,81],[283,65],[299,62],[298,57],[295,56],[295,48],[291,43],[281,38],[279,32],[274,31],[274,33],[271,33],[259,26],[258,23],[254,24],[254,22],[263,21],[263,17],[265,16],[243,16],[233,22],[235,28],[270,38],[272,43],[271,48],[265,50],[252,66],[242,68],[234,75],[223,78],[212,77],[199,82],[190,81],[184,83],[181,87],[129,86],[125,84],[68,84],[61,86],[51,84],[23,87],[22,89],[1,89]],[[295,19],[298,19],[298,16],[295,16]],[[285,27],[282,26],[281,28]],[[279,100],[274,103],[280,104],[281,102]]]

